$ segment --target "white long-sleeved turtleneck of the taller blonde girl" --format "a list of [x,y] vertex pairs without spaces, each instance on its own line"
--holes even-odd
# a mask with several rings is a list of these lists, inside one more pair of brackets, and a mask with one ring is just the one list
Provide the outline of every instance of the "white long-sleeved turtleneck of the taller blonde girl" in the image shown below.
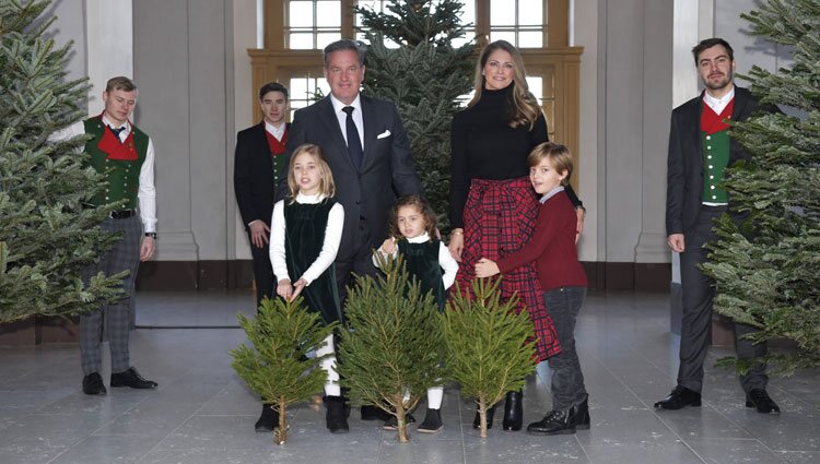
[[[325,199],[325,195],[306,195],[298,193],[296,195],[296,203],[302,204],[316,204]],[[313,281],[321,275],[325,270],[330,267],[330,264],[336,260],[336,254],[339,252],[339,243],[341,242],[341,231],[344,224],[344,209],[341,203],[336,203],[328,213],[327,227],[325,228],[325,242],[321,243],[321,251],[316,257],[309,267],[304,274],[293,276],[288,274],[288,263],[285,262],[284,254],[284,200],[280,200],[273,205],[273,215],[270,219],[270,264],[273,267],[273,274],[277,276],[277,282],[282,279],[290,279],[296,282],[300,278],[304,278],[307,285],[311,285]],[[295,277],[295,278],[294,278]]]

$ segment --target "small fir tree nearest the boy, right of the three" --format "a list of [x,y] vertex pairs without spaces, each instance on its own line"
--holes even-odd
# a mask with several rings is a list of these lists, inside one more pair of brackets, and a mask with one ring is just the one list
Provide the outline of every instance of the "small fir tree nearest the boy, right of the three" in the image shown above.
[[487,437],[487,409],[509,391],[522,390],[536,369],[535,332],[527,310],[515,313],[517,296],[501,302],[499,284],[485,278],[472,283],[472,298],[456,288],[441,314],[447,369],[461,385],[461,395],[475,397],[479,432]]

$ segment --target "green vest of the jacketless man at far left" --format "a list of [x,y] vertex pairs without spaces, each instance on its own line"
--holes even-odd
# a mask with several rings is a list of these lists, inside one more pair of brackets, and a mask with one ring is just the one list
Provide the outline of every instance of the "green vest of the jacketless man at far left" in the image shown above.
[[101,206],[108,203],[126,201],[125,209],[137,207],[137,193],[140,188],[140,169],[148,153],[148,135],[131,124],[137,159],[109,159],[108,154],[97,146],[103,139],[106,127],[101,117],[89,118],[84,121],[85,133],[92,139],[85,143],[85,152],[91,154],[91,166],[105,175],[105,192],[94,197],[92,204]]

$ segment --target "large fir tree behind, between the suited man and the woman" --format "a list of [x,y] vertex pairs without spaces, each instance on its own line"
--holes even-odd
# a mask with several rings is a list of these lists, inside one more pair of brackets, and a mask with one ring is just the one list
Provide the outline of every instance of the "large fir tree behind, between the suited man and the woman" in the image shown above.
[[449,127],[459,110],[457,98],[472,88],[475,45],[452,46],[466,34],[459,0],[385,3],[385,12],[356,9],[370,43],[364,90],[398,106],[422,187],[446,231]]

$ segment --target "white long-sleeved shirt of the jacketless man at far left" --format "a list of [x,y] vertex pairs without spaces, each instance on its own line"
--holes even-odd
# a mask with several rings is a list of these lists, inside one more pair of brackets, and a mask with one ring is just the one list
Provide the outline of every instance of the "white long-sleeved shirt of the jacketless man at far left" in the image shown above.
[[[119,133],[119,141],[125,142],[128,139],[128,134],[131,133],[131,123],[126,121],[125,126],[115,127],[108,118],[103,115],[103,123],[110,126],[114,129],[125,128]],[[85,133],[85,124],[83,121],[74,122],[68,128],[54,133],[48,140],[56,142],[62,140],[69,140],[78,135]],[[151,138],[148,138],[148,151],[145,152],[145,160],[142,162],[140,168],[140,188],[137,192],[137,199],[140,205],[140,219],[142,221],[142,227],[147,233],[156,231],[156,188],[154,187],[154,142]]]

